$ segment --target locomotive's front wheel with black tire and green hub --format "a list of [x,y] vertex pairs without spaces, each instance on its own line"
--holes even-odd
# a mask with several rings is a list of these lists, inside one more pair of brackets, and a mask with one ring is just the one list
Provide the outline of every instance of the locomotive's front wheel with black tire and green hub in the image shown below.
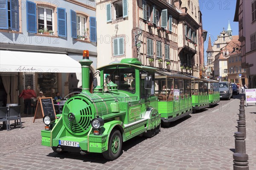
[[108,150],[102,153],[105,159],[115,160],[120,156],[122,150],[122,135],[119,130],[114,129],[108,140]]

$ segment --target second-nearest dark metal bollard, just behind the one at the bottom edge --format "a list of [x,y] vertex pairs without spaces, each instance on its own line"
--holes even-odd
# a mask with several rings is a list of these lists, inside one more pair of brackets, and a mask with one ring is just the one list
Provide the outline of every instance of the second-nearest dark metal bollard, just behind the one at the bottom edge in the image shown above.
[[234,136],[236,153],[246,153],[244,132],[235,132]]

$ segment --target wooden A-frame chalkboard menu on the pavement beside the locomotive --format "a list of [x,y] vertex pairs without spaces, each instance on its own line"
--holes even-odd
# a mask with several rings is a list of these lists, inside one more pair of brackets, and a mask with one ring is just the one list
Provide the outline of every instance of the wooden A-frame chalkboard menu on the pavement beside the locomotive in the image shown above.
[[52,97],[42,97],[38,99],[33,123],[35,122],[35,119],[40,119],[44,116],[56,117]]

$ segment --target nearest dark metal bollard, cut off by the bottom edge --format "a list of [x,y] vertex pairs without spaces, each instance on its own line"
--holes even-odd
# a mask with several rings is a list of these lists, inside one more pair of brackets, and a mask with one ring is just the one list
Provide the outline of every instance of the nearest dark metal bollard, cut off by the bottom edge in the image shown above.
[[233,159],[233,170],[249,170],[247,154],[233,153]]

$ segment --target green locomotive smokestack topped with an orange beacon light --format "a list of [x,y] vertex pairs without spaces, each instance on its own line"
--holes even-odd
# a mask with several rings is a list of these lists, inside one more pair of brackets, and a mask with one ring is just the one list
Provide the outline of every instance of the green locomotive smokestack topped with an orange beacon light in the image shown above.
[[93,61],[89,59],[88,50],[84,50],[83,59],[79,63],[82,68],[82,93],[90,93],[90,65]]

